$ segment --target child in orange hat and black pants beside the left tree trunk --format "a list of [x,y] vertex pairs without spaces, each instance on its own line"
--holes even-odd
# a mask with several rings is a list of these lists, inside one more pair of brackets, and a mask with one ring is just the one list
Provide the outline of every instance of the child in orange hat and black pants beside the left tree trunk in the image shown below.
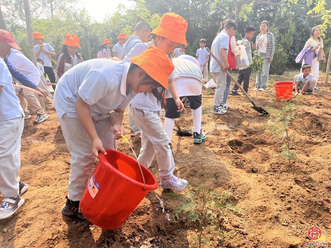
[[[33,33],[32,40],[38,44],[34,46],[34,52],[37,58],[41,58],[44,61],[45,76],[47,75],[49,81],[55,84],[55,74],[51,61],[51,56],[55,56],[54,48],[50,44],[44,43],[45,38],[41,33]],[[55,90],[55,85],[52,85],[52,87]]]

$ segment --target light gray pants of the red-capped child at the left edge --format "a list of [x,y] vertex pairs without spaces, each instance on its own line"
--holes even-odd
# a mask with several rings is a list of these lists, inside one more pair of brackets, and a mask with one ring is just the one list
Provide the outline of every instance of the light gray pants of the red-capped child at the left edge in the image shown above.
[[0,121],[0,192],[5,198],[19,194],[21,136],[24,117]]

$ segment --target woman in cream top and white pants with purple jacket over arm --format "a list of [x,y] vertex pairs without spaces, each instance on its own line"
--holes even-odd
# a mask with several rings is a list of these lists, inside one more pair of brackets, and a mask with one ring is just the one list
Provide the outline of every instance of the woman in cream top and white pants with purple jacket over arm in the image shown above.
[[[317,54],[321,51],[322,57],[323,57],[323,63],[325,63],[325,54],[323,51],[323,40],[321,37],[319,37],[320,34],[321,34],[321,28],[319,26],[313,27],[311,30],[310,38],[307,40],[305,47],[312,47],[312,49],[310,51],[316,50]],[[311,71],[312,71],[312,75],[316,79],[316,85],[317,85],[318,74],[319,74],[318,57],[312,60]],[[314,87],[314,90],[319,91],[319,89],[316,88],[316,85]]]

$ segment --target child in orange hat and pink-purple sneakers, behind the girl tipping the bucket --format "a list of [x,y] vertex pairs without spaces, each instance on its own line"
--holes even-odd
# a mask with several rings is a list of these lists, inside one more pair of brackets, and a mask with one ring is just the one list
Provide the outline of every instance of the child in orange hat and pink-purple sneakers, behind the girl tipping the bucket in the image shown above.
[[[151,41],[136,45],[124,58],[124,61],[128,62],[128,58],[141,54],[151,46],[156,46],[163,50],[171,60],[170,54],[176,47],[179,45],[187,46],[185,39],[186,30],[187,22],[184,18],[174,13],[166,13],[161,18],[159,26],[152,31]],[[179,99],[173,82],[173,73],[168,77],[168,90],[174,99],[175,111],[183,111],[184,105]],[[160,168],[161,186],[174,191],[183,190],[187,185],[187,181],[173,175],[175,163],[168,146],[168,136],[161,123],[160,103],[151,94],[138,94],[129,106],[129,113],[142,131],[141,149],[138,157],[139,163],[149,168],[154,154],[156,154]]]

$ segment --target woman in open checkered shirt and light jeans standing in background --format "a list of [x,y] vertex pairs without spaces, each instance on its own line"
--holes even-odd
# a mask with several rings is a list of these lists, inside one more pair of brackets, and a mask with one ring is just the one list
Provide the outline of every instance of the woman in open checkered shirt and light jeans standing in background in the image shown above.
[[261,57],[264,57],[262,74],[256,74],[256,84],[254,91],[266,91],[267,81],[269,78],[269,68],[272,62],[273,55],[275,53],[275,38],[273,34],[269,32],[269,22],[262,21],[260,24],[260,30],[258,37],[256,37],[256,51],[261,53]]

